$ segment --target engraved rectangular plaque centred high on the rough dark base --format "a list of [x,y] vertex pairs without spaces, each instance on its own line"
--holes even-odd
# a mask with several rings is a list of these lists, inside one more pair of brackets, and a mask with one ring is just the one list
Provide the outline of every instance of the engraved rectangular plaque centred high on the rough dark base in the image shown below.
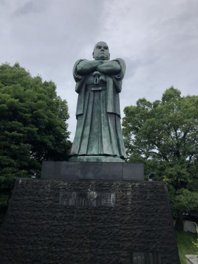
[[115,192],[60,191],[59,206],[115,206]]

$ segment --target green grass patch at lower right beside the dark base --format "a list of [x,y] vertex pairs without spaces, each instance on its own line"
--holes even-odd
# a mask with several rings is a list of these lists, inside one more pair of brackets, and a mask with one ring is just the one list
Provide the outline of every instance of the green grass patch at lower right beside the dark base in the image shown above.
[[197,255],[197,250],[193,245],[193,241],[197,241],[197,235],[190,232],[176,232],[177,246],[181,264],[186,264],[185,255]]

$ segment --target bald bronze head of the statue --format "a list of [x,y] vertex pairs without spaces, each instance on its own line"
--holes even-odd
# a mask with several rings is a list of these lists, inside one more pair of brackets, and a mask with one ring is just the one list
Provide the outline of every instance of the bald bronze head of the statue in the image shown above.
[[108,60],[109,57],[108,45],[106,42],[99,41],[94,47],[93,58],[95,60]]

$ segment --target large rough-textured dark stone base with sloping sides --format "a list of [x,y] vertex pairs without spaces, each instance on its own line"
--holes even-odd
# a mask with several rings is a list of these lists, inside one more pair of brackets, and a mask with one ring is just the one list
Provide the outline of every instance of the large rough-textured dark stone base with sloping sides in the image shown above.
[[148,181],[17,178],[0,252],[3,264],[180,263],[166,185]]

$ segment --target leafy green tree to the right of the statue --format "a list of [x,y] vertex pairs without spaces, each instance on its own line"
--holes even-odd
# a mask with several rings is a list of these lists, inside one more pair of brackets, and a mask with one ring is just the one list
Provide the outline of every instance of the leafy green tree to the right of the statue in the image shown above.
[[168,183],[176,228],[183,211],[198,210],[198,96],[174,87],[153,103],[139,99],[124,108],[123,135],[131,162],[145,163],[145,176]]

